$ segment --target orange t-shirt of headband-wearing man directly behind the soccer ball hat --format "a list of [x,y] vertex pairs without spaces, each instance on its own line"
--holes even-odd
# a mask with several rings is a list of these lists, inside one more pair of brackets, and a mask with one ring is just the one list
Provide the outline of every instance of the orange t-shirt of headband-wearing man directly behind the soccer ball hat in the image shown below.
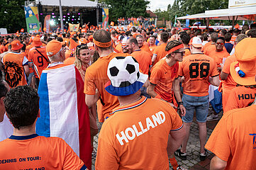
[[104,122],[104,119],[109,117],[109,114],[112,113],[113,108],[116,108],[119,105],[117,96],[108,94],[108,92],[104,89],[104,85],[109,81],[106,74],[108,63],[114,57],[126,57],[127,55],[128,54],[126,53],[112,52],[108,56],[99,57],[94,64],[91,64],[91,66],[87,68],[87,72],[85,73],[84,77],[84,94],[95,95],[96,89],[98,89],[102,99],[101,111],[98,110],[99,122]]

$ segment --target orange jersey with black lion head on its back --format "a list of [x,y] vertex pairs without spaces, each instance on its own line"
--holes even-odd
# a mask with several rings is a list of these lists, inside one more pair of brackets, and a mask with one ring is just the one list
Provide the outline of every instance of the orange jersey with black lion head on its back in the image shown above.
[[3,63],[6,82],[11,88],[27,84],[23,68],[24,65],[28,65],[26,56],[21,53],[9,52],[4,55]]

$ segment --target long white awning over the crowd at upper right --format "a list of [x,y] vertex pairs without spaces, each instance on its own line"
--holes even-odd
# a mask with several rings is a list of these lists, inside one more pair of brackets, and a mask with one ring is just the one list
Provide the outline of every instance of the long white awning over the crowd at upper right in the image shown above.
[[191,16],[181,16],[181,17],[178,17],[177,19],[210,18],[211,20],[232,20],[233,16],[235,16],[235,20],[255,21],[256,6],[209,10],[209,11],[205,11],[204,13],[197,13]]

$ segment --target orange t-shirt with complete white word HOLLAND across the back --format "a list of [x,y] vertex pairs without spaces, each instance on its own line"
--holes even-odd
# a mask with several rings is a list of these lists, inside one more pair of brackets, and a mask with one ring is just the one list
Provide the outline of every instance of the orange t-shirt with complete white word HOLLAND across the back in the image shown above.
[[143,96],[113,113],[99,133],[95,168],[169,169],[168,135],[183,126],[174,108]]

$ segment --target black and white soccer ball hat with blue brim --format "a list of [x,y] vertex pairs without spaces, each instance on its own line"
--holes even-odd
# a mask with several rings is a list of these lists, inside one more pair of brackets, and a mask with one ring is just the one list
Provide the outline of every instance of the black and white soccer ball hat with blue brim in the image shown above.
[[105,89],[113,96],[135,94],[148,79],[131,56],[113,58],[108,64],[107,74],[110,81],[105,84]]

